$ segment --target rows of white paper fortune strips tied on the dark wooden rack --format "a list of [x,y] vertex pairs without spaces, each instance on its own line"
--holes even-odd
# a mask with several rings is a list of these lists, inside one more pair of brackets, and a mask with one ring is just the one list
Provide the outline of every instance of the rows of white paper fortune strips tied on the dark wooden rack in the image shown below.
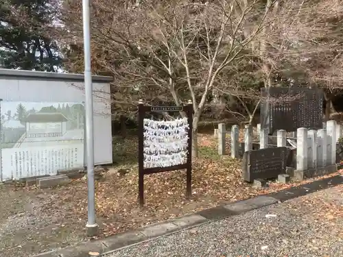
[[187,118],[174,121],[144,119],[144,167],[169,167],[187,161]]

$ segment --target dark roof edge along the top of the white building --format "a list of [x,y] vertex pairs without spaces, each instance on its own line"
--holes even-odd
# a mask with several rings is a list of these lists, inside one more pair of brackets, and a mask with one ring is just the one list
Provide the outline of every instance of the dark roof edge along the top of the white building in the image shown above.
[[[84,81],[83,74],[75,73],[54,73],[54,72],[44,72],[44,71],[23,71],[23,70],[12,70],[12,69],[0,69],[0,78],[17,78],[17,77],[29,77],[31,79],[39,80],[64,80],[64,81]],[[93,82],[112,82],[113,77],[107,76],[92,76]]]

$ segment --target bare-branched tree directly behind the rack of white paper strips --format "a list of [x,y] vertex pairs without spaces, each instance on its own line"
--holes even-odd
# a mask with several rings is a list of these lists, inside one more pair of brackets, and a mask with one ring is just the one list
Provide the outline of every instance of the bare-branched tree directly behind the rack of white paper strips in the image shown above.
[[[120,1],[119,1],[120,2]],[[145,101],[193,103],[193,156],[197,131],[211,90],[239,65],[248,45],[269,22],[274,1],[93,2],[93,62],[115,75],[118,88],[134,88]],[[80,4],[69,3],[64,23],[82,40]],[[250,29],[246,29],[246,28]],[[69,34],[70,36],[70,34]]]

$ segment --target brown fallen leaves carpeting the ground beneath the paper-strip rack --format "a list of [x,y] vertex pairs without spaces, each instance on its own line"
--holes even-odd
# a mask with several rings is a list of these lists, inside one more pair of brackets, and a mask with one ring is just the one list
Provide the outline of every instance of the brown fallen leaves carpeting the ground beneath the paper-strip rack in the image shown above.
[[[215,156],[217,151],[213,148],[215,144],[210,143],[213,136],[204,137],[199,140],[200,143],[206,143],[201,149],[202,154],[210,157]],[[134,156],[134,153],[130,155]],[[123,154],[123,156],[125,155]],[[126,169],[128,173],[123,175],[117,172],[119,169]],[[333,175],[335,174],[326,177]],[[252,184],[243,181],[239,160],[219,156],[216,158],[200,158],[193,161],[193,196],[191,199],[185,197],[185,171],[145,175],[145,206],[141,209],[137,203],[137,165],[126,165],[110,169],[104,178],[104,181],[96,182],[95,196],[97,222],[102,228],[100,236],[109,236],[156,223],[157,221],[174,219],[218,204],[281,191],[291,186],[309,182],[309,180],[290,184],[271,182],[269,188],[259,190],[252,187]],[[86,222],[87,184],[85,180],[75,180],[69,186],[61,188],[45,191],[32,188],[30,191],[36,191],[37,195],[44,194],[45,197],[50,199],[49,201],[45,200],[47,204],[41,208],[42,211],[48,213],[63,211],[64,217],[69,217],[70,223]],[[78,233],[84,233],[84,231]]]

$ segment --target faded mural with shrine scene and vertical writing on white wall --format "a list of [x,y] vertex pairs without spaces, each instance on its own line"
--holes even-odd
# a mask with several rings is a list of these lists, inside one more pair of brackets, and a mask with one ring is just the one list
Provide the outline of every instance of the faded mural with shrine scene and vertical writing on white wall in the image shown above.
[[84,105],[1,101],[2,180],[84,164]]

